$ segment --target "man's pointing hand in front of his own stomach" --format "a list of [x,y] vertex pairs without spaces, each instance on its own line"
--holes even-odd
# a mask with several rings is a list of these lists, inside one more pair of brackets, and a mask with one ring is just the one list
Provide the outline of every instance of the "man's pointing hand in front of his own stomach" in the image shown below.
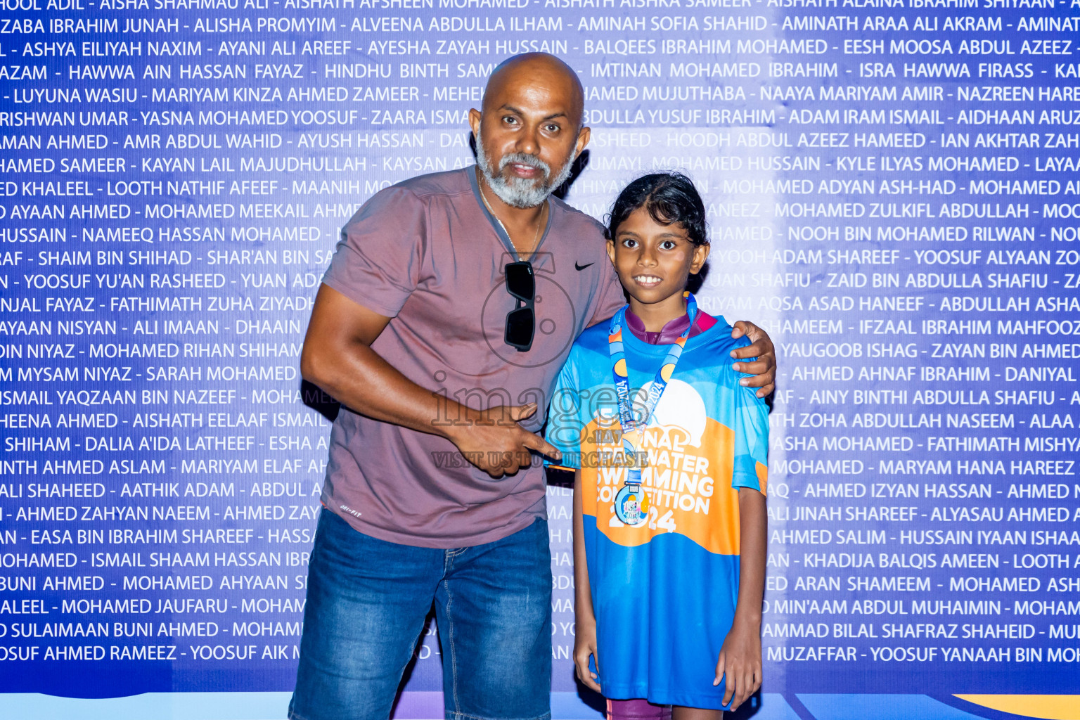
[[462,457],[491,477],[513,475],[532,463],[530,449],[553,460],[562,458],[554,446],[517,424],[536,411],[536,403],[467,409],[447,437],[458,446]]

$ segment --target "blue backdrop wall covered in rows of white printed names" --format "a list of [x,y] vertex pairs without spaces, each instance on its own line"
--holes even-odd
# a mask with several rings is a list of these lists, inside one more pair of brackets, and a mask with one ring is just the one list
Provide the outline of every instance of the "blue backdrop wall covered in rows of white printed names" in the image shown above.
[[[472,163],[528,51],[585,86],[568,202],[688,173],[705,309],[778,344],[748,712],[1080,717],[1078,6],[0,0],[5,717],[283,717],[333,413],[311,299],[367,198]],[[569,507],[553,702],[596,717]],[[438,668],[429,633],[399,717],[442,717]]]

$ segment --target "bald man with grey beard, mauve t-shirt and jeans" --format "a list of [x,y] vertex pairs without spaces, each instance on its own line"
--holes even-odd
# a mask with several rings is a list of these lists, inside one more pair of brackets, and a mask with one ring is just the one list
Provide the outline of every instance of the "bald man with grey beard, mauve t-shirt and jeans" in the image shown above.
[[[599,223],[550,198],[582,111],[566,64],[513,57],[470,110],[476,165],[387,188],[341,231],[300,359],[341,410],[295,720],[386,720],[432,603],[447,718],[551,715],[539,454],[558,453],[537,433],[573,339],[624,303]],[[744,350],[768,393],[771,343]]]

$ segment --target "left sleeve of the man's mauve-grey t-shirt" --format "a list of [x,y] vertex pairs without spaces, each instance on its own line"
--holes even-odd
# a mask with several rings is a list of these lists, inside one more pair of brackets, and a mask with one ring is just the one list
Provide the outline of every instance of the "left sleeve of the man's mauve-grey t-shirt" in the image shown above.
[[426,231],[426,208],[410,190],[381,190],[341,228],[323,282],[353,302],[393,317],[419,282]]

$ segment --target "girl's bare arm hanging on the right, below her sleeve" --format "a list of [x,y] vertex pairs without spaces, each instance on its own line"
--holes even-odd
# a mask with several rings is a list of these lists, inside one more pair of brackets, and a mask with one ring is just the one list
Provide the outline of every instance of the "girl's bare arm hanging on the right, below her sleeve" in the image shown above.
[[739,488],[739,600],[731,631],[724,640],[714,685],[727,673],[724,702],[742,705],[761,687],[761,600],[768,544],[765,495]]

